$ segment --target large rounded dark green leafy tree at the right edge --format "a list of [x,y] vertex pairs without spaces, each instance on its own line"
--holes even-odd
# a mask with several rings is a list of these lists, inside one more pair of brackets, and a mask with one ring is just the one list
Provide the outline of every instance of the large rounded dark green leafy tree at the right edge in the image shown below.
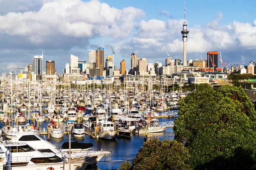
[[189,163],[195,169],[253,169],[255,118],[253,104],[241,87],[214,91],[202,84],[180,103],[175,139],[189,149]]

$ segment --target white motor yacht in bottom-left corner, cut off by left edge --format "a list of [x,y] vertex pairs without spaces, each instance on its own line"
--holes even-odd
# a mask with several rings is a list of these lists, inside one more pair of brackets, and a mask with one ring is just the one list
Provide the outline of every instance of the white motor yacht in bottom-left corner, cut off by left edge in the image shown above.
[[[0,143],[0,169],[31,170],[64,168],[65,161],[55,153],[41,153],[24,142]],[[9,167],[8,167],[9,166]]]

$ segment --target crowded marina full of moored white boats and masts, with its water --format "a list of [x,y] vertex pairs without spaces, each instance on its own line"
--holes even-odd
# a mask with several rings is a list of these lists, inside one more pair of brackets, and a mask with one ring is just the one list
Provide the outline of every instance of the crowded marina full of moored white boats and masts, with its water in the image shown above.
[[[174,139],[172,127],[178,105],[167,105],[166,101],[176,96],[178,104],[182,91],[132,91],[126,90],[128,85],[117,89],[111,84],[89,88],[3,77],[6,79],[1,82],[0,92],[2,144],[24,142],[41,151],[40,154],[51,153],[63,167],[118,169],[122,162],[132,161],[147,139]],[[72,144],[72,152],[67,151],[67,143]],[[92,146],[85,148],[83,144]],[[32,156],[28,160],[33,160]],[[2,163],[7,164],[6,157]],[[26,161],[24,166],[29,169],[34,163]]]

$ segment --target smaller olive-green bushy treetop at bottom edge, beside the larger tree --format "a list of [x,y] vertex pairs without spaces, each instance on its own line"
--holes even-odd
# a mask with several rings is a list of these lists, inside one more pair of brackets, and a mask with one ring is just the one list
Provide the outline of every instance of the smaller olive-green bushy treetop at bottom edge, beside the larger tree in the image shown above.
[[188,150],[181,143],[152,138],[144,142],[132,165],[125,162],[119,170],[189,170],[188,160]]

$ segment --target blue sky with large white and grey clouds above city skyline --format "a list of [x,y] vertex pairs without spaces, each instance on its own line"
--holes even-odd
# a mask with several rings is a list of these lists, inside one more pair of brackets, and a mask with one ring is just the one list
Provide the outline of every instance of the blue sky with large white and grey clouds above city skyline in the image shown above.
[[[256,62],[255,0],[186,0],[188,59],[221,51],[224,62]],[[131,54],[148,63],[183,60],[183,0],[0,0],[0,73],[24,68],[44,50],[63,74],[70,54],[88,61],[105,48],[116,68]],[[233,62],[233,63],[232,63]],[[221,62],[218,63],[221,67]],[[229,68],[230,68],[229,65]],[[224,65],[225,67],[225,65]]]

